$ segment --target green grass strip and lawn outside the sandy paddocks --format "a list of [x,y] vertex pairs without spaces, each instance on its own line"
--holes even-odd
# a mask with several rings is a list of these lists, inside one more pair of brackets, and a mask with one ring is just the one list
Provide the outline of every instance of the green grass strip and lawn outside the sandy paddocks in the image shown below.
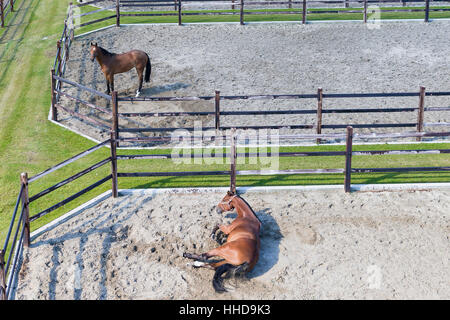
[[[55,55],[55,44],[59,39],[69,0],[19,0],[17,12],[8,17],[8,27],[0,30],[0,245],[10,223],[17,193],[19,176],[28,172],[33,176],[55,164],[72,157],[94,145],[91,141],[65,130],[47,120],[50,106],[50,68]],[[92,10],[86,9],[86,10]],[[349,15],[350,16],[350,15]],[[92,15],[101,17],[100,14]],[[296,15],[288,16],[296,17]],[[188,22],[229,21],[238,19],[229,16],[184,17]],[[249,17],[250,18],[250,17]],[[276,15],[254,16],[255,19],[278,18]],[[286,17],[287,18],[287,17]],[[329,16],[329,18],[333,18]],[[172,18],[170,18],[172,19]],[[168,17],[146,18],[145,22],[170,22]],[[176,21],[176,17],[173,17]],[[311,16],[310,19],[313,19]],[[247,19],[246,19],[247,20]],[[209,20],[211,21],[211,20]],[[248,21],[248,20],[247,20]],[[122,23],[142,22],[140,19],[124,18]],[[106,22],[105,25],[110,24]],[[100,27],[101,24],[89,26]],[[80,31],[87,31],[84,28]],[[79,33],[79,31],[78,31]],[[319,146],[302,148],[282,148],[280,151],[326,151],[343,150],[343,146]],[[355,146],[355,150],[367,149],[415,149],[450,148],[450,144],[417,145],[374,145]],[[164,153],[170,150],[119,151],[124,153]],[[104,148],[72,163],[45,178],[30,184],[33,195],[86,167],[109,156]],[[170,160],[129,160],[119,161],[119,171],[173,171]],[[354,167],[396,167],[396,166],[443,166],[449,165],[448,155],[410,155],[410,156],[360,156],[355,157]],[[342,168],[343,157],[303,157],[281,158],[280,169],[286,168]],[[238,169],[255,169],[254,164],[240,164]],[[218,170],[228,169],[227,165],[183,165],[176,170]],[[110,173],[109,164],[87,174],[57,191],[33,202],[31,215],[46,209],[62,199],[78,192],[85,186]],[[353,183],[404,183],[404,182],[448,182],[450,173],[404,173],[404,174],[355,174]],[[255,185],[310,185],[342,184],[341,174],[327,175],[283,175],[283,176],[240,176],[238,186]],[[119,188],[148,187],[186,187],[186,186],[227,186],[229,177],[155,177],[122,178]],[[53,211],[32,223],[32,230],[55,219],[68,210],[86,202],[96,195],[110,189],[107,182],[101,187],[70,204]]]

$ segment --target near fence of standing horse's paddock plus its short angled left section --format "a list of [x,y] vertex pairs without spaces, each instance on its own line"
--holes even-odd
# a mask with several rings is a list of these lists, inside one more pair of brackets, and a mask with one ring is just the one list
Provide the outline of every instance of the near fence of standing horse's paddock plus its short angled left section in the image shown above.
[[[62,91],[61,88],[57,88],[56,83],[64,83],[78,90],[88,92],[98,97],[106,99],[111,105],[111,109],[95,105],[81,98],[74,97],[73,95]],[[88,107],[90,110],[102,112],[110,117],[110,122],[100,122],[92,116],[81,114],[71,110],[69,107],[64,106],[59,97],[64,96],[71,101],[81,103]],[[202,127],[202,130],[229,130],[231,128],[236,129],[292,129],[292,130],[315,130],[317,134],[322,133],[322,129],[345,129],[347,126],[353,128],[415,128],[416,132],[423,132],[425,127],[446,127],[450,126],[449,122],[425,122],[425,112],[438,111],[445,112],[450,111],[450,106],[445,107],[426,107],[425,97],[439,97],[450,96],[450,91],[430,91],[427,92],[425,87],[420,87],[417,92],[390,92],[390,93],[325,93],[322,88],[317,90],[317,93],[312,94],[274,94],[274,95],[237,95],[237,96],[225,96],[221,95],[220,91],[215,91],[212,96],[189,96],[189,97],[154,97],[154,96],[142,96],[139,98],[134,97],[119,97],[117,92],[112,92],[109,96],[105,93],[80,85],[74,81],[64,79],[62,77],[54,75],[52,70],[52,119],[58,121],[58,110],[63,110],[70,115],[77,117],[86,123],[89,123],[95,127],[100,128],[103,131],[113,131],[116,134],[116,139],[119,139],[120,133],[158,133],[158,132],[173,132],[176,130],[195,131],[195,127],[145,127],[145,128],[128,128],[120,125],[120,121],[127,118],[157,118],[157,117],[195,117],[195,116],[214,116],[213,127]],[[400,107],[400,108],[324,108],[325,99],[341,99],[341,98],[404,98],[404,97],[417,97],[418,102],[416,107]],[[290,110],[243,110],[243,111],[227,111],[221,109],[221,101],[255,101],[255,100],[304,100],[314,99],[317,101],[316,109],[290,109]],[[163,102],[163,101],[198,101],[204,103],[205,101],[211,101],[211,111],[202,112],[120,112],[120,102]],[[324,124],[324,114],[353,114],[353,113],[417,113],[417,121],[415,122],[400,122],[400,123],[363,123],[363,124]],[[315,114],[316,121],[311,124],[290,124],[290,125],[245,125],[236,126],[222,125],[223,117],[227,116],[257,116],[257,115],[306,115]],[[417,137],[417,141],[420,141],[420,137]],[[318,139],[317,143],[322,142]]]

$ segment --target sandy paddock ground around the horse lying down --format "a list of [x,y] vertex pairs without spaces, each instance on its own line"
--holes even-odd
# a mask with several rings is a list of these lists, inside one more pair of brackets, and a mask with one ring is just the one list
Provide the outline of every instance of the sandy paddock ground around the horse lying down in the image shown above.
[[25,251],[16,299],[449,299],[450,191],[253,191],[261,254],[216,294],[205,252],[222,193],[106,199]]

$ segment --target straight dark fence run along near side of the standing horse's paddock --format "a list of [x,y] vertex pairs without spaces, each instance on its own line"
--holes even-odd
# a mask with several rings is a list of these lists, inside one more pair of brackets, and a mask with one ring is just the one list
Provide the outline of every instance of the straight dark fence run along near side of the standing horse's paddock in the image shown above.
[[[450,107],[425,107],[426,96],[450,96],[449,92],[426,92],[425,87],[420,87],[417,92],[394,92],[394,93],[324,93],[321,88],[315,94],[291,94],[291,95],[240,95],[240,96],[222,96],[219,91],[214,96],[191,96],[191,97],[117,97],[117,92],[113,92],[111,129],[116,132],[116,137],[120,133],[145,133],[145,132],[171,132],[178,129],[194,131],[194,127],[183,128],[123,128],[120,126],[120,120],[132,117],[189,117],[189,116],[214,116],[214,127],[203,127],[203,130],[229,130],[236,129],[315,129],[317,134],[322,133],[322,129],[345,129],[347,126],[353,128],[416,128],[417,132],[422,132],[425,126],[450,126],[450,123],[424,122],[425,111],[450,111]],[[417,107],[402,108],[330,108],[323,107],[325,99],[339,98],[393,98],[393,97],[418,97]],[[291,110],[252,110],[252,111],[224,111],[221,110],[221,101],[231,100],[299,100],[315,99],[317,108],[314,109],[291,109]],[[206,112],[120,112],[119,103],[121,101],[211,101],[214,102],[214,111]],[[213,109],[213,108],[211,108]],[[323,114],[352,114],[352,113],[404,113],[416,112],[416,122],[403,123],[365,123],[365,124],[324,124]],[[255,116],[255,115],[293,115],[293,114],[315,114],[316,122],[311,124],[291,124],[291,125],[255,125],[255,126],[223,126],[221,120],[226,116]],[[420,137],[417,138],[418,140]],[[317,140],[317,142],[321,142]]]

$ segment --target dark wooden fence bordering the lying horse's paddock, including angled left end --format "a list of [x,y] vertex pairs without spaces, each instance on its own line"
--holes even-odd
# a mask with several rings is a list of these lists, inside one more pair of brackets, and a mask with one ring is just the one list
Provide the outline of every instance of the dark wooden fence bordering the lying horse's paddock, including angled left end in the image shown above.
[[[450,171],[449,166],[441,167],[403,167],[403,168],[353,168],[352,157],[363,155],[392,155],[392,154],[442,154],[450,153],[450,149],[433,149],[433,150],[376,150],[376,151],[353,151],[354,139],[376,139],[380,137],[436,137],[436,136],[450,136],[450,132],[419,132],[419,133],[395,133],[395,134],[380,134],[380,135],[363,135],[354,134],[352,127],[347,127],[346,134],[310,134],[310,135],[295,135],[295,136],[281,136],[281,138],[297,139],[326,139],[326,138],[346,138],[346,150],[345,151],[324,151],[324,152],[279,152],[276,156],[279,157],[310,157],[310,156],[344,156],[345,168],[331,168],[331,169],[288,169],[288,170],[237,170],[238,157],[258,157],[259,153],[238,153],[237,152],[237,140],[238,135],[236,129],[231,130],[230,152],[225,154],[225,157],[230,158],[230,170],[223,171],[174,171],[174,172],[121,172],[118,168],[118,160],[133,160],[133,159],[171,159],[170,154],[134,154],[134,155],[117,155],[117,144],[120,141],[127,141],[133,138],[119,138],[116,139],[114,132],[111,132],[111,138],[103,141],[73,157],[67,159],[41,173],[38,173],[32,177],[28,177],[27,173],[20,175],[20,189],[18,192],[16,204],[14,207],[11,223],[7,232],[7,236],[2,248],[0,248],[0,299],[12,298],[11,288],[13,282],[17,276],[19,258],[23,247],[30,245],[30,224],[31,222],[43,217],[44,215],[68,204],[69,202],[79,198],[88,191],[91,191],[105,182],[111,180],[112,196],[118,197],[118,178],[122,177],[154,177],[154,176],[216,176],[216,175],[229,175],[230,176],[230,189],[236,191],[236,176],[238,175],[291,175],[291,174],[323,174],[323,173],[341,173],[344,174],[344,190],[345,192],[351,191],[351,174],[352,173],[366,173],[366,172],[430,172],[430,171]],[[170,137],[152,137],[152,138],[140,138],[142,139],[165,139]],[[73,174],[72,176],[59,181],[58,183],[48,187],[34,195],[29,195],[29,184],[33,183],[48,174],[55,172],[97,150],[110,147],[110,157],[103,159],[90,167]],[[191,158],[195,157],[195,154],[191,154]],[[271,157],[272,154],[264,155]],[[213,155],[203,155],[203,157],[213,157]],[[215,157],[215,155],[214,155]],[[56,191],[57,189],[77,180],[78,178],[93,172],[94,170],[111,163],[111,174],[103,177],[95,183],[83,188],[77,193],[62,199],[56,204],[49,206],[48,208],[39,211],[37,214],[30,216],[30,205],[40,199],[43,196]],[[13,235],[14,231],[14,235]],[[12,236],[12,237],[11,237]],[[6,259],[6,252],[9,251],[9,255]],[[6,259],[6,260],[5,260]]]

